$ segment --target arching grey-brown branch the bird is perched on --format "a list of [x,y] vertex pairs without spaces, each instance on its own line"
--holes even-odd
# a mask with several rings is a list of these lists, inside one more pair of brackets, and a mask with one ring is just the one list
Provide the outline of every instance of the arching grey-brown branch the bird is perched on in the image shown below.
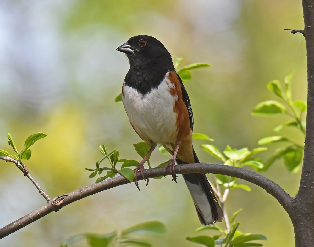
[[[164,167],[156,167],[151,169],[146,169],[144,171],[145,178],[153,178],[163,176]],[[221,164],[210,164],[210,163],[200,163],[200,164],[182,164],[175,166],[175,171],[177,174],[182,173],[215,173],[223,174],[228,176],[233,176],[237,178],[244,179],[253,184],[256,184],[263,189],[265,189],[270,195],[275,197],[278,202],[284,207],[284,209],[290,215],[291,213],[291,201],[292,198],[275,182],[265,178],[264,176],[245,170],[239,167],[226,166]],[[167,171],[166,175],[170,175]],[[139,175],[138,180],[143,180]],[[127,184],[129,181],[125,180],[122,176],[117,176],[111,179],[106,179],[98,184],[91,184],[81,189],[70,192],[66,195],[58,196],[47,202],[46,205],[38,208],[35,211],[25,215],[24,217],[8,224],[7,226],[0,229],[0,239],[8,236],[11,233],[27,226],[28,224],[44,217],[45,215],[58,211],[64,206],[80,200],[89,195],[96,194],[103,190],[107,190],[113,187],[117,187],[122,184]]]

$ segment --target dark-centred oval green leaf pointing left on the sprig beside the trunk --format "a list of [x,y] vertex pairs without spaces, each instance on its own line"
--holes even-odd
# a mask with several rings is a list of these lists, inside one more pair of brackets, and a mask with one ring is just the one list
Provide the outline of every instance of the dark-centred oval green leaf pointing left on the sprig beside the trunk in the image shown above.
[[252,115],[269,116],[279,113],[286,113],[286,107],[275,101],[267,100],[259,103],[252,111]]

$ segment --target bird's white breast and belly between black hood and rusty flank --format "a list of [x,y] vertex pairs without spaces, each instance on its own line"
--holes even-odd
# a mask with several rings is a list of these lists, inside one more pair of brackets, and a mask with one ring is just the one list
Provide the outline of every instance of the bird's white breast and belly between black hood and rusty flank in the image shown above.
[[122,101],[136,133],[147,143],[169,146],[176,142],[176,114],[169,86],[164,80],[158,88],[142,95],[136,89],[123,85]]

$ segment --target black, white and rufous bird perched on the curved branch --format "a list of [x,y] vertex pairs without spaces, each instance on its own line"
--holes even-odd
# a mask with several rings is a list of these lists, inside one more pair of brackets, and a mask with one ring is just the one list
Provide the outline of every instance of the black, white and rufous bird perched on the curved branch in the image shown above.
[[[174,69],[171,55],[160,41],[148,35],[134,36],[117,50],[125,53],[130,63],[122,86],[125,111],[135,132],[151,147],[135,169],[135,184],[138,187],[137,173],[143,176],[143,165],[157,143],[173,154],[164,174],[169,168],[176,181],[176,161],[189,164],[199,163],[199,160],[192,145],[190,99]],[[223,212],[206,176],[182,175],[200,222],[204,225],[221,222]]]

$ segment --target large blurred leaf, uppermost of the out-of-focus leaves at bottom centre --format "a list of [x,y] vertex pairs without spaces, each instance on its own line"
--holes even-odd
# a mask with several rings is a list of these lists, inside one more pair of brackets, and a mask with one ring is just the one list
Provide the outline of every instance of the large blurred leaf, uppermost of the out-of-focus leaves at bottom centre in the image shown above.
[[165,225],[160,221],[146,221],[141,222],[139,224],[136,224],[134,226],[131,226],[129,228],[126,228],[122,230],[121,235],[127,235],[130,233],[135,233],[139,231],[146,231],[146,232],[152,232],[152,233],[166,233],[166,227]]

